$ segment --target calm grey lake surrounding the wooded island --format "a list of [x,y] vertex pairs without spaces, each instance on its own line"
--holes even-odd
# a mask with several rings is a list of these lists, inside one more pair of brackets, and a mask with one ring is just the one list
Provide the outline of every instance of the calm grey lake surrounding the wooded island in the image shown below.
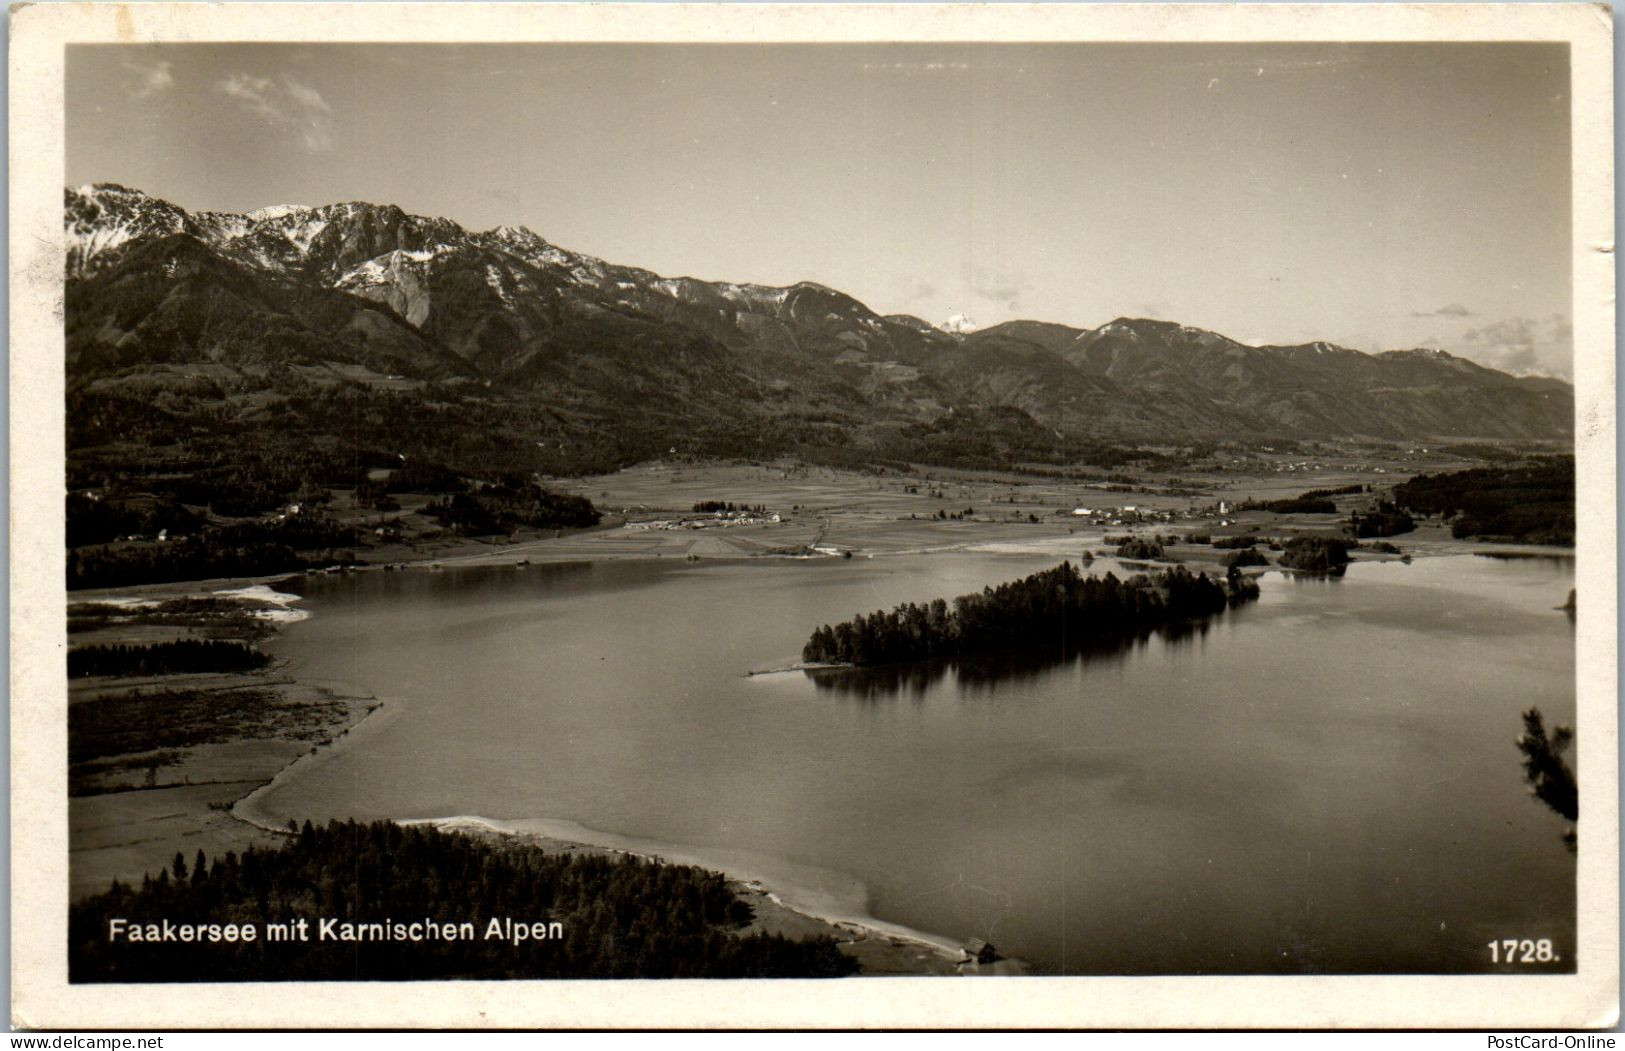
[[1529,707],[1575,720],[1571,560],[1269,572],[1250,606],[1068,660],[746,674],[1058,560],[296,578],[312,616],[268,648],[388,703],[254,806],[580,825],[1037,973],[1479,971],[1502,937],[1571,968],[1575,856],[1513,746]]

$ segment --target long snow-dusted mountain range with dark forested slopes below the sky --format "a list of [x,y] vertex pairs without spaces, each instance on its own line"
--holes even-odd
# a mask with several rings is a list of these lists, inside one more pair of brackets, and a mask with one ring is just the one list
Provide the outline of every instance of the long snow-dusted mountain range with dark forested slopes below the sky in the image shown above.
[[188,213],[98,184],[67,190],[65,224],[70,398],[177,419],[252,422],[344,388],[466,404],[470,426],[505,419],[536,448],[926,460],[977,440],[1066,460],[1089,443],[1573,430],[1568,383],[1438,349],[1248,346],[1126,317],[939,328],[812,283],[663,278],[393,205]]

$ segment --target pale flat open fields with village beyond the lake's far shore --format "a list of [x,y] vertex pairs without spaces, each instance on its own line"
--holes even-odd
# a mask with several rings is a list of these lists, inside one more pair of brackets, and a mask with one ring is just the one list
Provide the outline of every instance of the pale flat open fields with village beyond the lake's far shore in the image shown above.
[[[852,552],[856,557],[941,551],[982,544],[1043,544],[1097,551],[1108,534],[1162,533],[1294,536],[1336,533],[1350,508],[1365,507],[1394,482],[1419,471],[1466,466],[1454,456],[1407,455],[1386,461],[1337,463],[1285,456],[1246,461],[1250,473],[1139,478],[1136,484],[1040,478],[1020,473],[918,468],[866,473],[777,463],[644,463],[611,474],[543,479],[549,489],[583,495],[604,512],[595,530],[507,541],[439,538],[369,552],[370,560],[419,564],[504,564],[598,559],[748,559]],[[1336,497],[1334,515],[1277,515],[1237,510],[1246,500],[1277,500],[1311,489],[1370,486]],[[760,505],[780,521],[722,523],[696,513],[700,502]],[[403,502],[405,504],[405,502]],[[1074,513],[1089,508],[1090,515]],[[1414,541],[1450,541],[1448,530],[1424,528]],[[1404,543],[1404,538],[1401,538]],[[1461,547],[1454,547],[1461,549]],[[1207,554],[1176,551],[1178,557]]]

